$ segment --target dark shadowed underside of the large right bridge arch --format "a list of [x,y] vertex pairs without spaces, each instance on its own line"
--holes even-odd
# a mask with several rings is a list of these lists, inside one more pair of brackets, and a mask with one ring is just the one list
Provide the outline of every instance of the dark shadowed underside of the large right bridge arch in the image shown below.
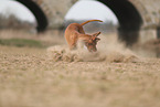
[[138,41],[142,18],[129,0],[98,0],[113,10],[119,21],[118,35],[127,45]]

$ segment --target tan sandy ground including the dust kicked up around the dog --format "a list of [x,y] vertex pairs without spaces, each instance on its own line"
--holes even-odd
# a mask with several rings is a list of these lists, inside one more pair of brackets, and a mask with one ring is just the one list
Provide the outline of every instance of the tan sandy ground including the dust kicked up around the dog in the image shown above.
[[70,52],[63,39],[49,49],[1,45],[0,107],[160,107],[160,60],[100,39],[95,54]]

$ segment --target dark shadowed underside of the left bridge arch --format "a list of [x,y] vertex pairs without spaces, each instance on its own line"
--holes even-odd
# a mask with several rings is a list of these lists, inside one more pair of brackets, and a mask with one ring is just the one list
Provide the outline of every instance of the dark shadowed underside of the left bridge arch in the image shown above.
[[[40,0],[15,0],[24,4],[35,17],[38,26],[38,32],[43,32],[47,28],[49,21],[46,14],[43,12],[42,8],[39,6]],[[42,3],[42,2],[41,2]]]

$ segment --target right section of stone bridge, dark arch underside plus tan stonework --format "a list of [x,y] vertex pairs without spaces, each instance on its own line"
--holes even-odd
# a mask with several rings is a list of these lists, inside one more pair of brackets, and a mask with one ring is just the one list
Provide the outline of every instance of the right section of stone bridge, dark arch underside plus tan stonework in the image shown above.
[[97,1],[106,4],[117,15],[120,23],[118,28],[119,39],[125,41],[127,45],[132,45],[136,42],[142,43],[159,36],[160,0]]

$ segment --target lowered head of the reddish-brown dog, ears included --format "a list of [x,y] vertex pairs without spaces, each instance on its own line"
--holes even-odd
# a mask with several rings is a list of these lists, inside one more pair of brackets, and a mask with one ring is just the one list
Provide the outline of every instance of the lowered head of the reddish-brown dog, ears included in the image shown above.
[[89,52],[96,52],[97,51],[97,42],[100,40],[99,38],[97,38],[100,34],[100,32],[94,33],[92,35],[88,34],[84,34],[83,35],[83,40],[85,42],[85,45],[87,46],[87,50]]

